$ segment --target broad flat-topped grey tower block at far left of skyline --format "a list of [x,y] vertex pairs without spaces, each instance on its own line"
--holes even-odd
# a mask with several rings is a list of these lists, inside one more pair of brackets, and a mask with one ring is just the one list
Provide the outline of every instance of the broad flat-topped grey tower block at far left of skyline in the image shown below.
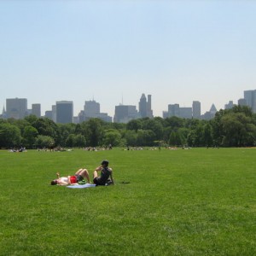
[[23,119],[26,116],[27,100],[26,99],[6,99],[7,118]]

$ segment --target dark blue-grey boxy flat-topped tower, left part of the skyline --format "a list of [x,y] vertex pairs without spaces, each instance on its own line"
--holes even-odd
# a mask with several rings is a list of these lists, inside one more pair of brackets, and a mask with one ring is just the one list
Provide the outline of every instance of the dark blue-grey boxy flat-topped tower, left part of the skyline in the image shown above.
[[56,123],[73,123],[73,102],[56,102]]

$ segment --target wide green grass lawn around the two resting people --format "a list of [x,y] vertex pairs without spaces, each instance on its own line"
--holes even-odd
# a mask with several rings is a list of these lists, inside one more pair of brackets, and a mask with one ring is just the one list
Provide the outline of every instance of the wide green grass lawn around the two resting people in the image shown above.
[[[256,149],[0,151],[0,255],[253,255]],[[116,185],[50,186],[110,161]],[[129,184],[121,182],[129,181]]]

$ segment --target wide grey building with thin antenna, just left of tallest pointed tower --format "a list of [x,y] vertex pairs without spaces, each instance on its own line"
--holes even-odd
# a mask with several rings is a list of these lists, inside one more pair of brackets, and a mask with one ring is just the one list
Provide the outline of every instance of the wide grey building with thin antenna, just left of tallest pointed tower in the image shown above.
[[138,119],[139,114],[136,106],[119,105],[115,106],[113,121],[116,123],[128,123],[132,119]]

